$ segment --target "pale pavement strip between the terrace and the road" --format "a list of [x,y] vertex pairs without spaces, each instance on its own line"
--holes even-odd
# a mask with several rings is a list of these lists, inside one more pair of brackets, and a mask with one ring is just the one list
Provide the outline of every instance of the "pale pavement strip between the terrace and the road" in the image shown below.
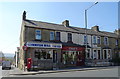
[[78,68],[65,68],[65,69],[57,69],[57,70],[39,70],[39,71],[22,71],[22,70],[16,68],[15,71],[19,71],[19,73],[12,72],[10,75],[35,75],[35,74],[47,74],[47,73],[99,70],[99,69],[107,69],[107,68],[114,68],[114,67],[115,66],[109,66],[109,67],[78,67]]

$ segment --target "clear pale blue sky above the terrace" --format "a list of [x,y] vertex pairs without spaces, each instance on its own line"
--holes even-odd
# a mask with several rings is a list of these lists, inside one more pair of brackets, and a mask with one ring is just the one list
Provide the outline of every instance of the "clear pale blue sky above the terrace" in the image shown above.
[[[85,27],[84,11],[94,2],[0,2],[0,51],[15,53],[19,47],[22,13],[26,18]],[[88,28],[98,25],[101,31],[113,32],[118,28],[118,2],[99,2],[87,11]]]

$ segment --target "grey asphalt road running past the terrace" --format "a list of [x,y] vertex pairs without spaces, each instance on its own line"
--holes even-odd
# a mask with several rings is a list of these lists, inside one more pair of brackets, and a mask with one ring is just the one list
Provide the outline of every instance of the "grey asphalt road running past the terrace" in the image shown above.
[[11,70],[2,70],[3,77],[118,77],[118,67],[87,70],[87,71],[72,71],[72,72],[57,72],[57,73],[42,73],[34,75],[10,75],[12,73],[21,72],[17,68]]

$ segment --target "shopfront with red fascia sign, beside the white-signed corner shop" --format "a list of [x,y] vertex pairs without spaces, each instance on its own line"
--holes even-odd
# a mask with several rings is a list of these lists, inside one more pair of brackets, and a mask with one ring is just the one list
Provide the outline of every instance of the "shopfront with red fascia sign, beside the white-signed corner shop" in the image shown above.
[[65,66],[84,66],[85,47],[63,46],[62,63]]

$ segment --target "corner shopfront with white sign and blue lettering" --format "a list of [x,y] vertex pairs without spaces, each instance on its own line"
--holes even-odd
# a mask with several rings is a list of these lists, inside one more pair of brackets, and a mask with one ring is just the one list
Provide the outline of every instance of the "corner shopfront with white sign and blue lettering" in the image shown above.
[[31,58],[31,69],[52,69],[54,63],[60,63],[62,44],[27,42],[26,46],[25,63],[27,66],[27,59]]

